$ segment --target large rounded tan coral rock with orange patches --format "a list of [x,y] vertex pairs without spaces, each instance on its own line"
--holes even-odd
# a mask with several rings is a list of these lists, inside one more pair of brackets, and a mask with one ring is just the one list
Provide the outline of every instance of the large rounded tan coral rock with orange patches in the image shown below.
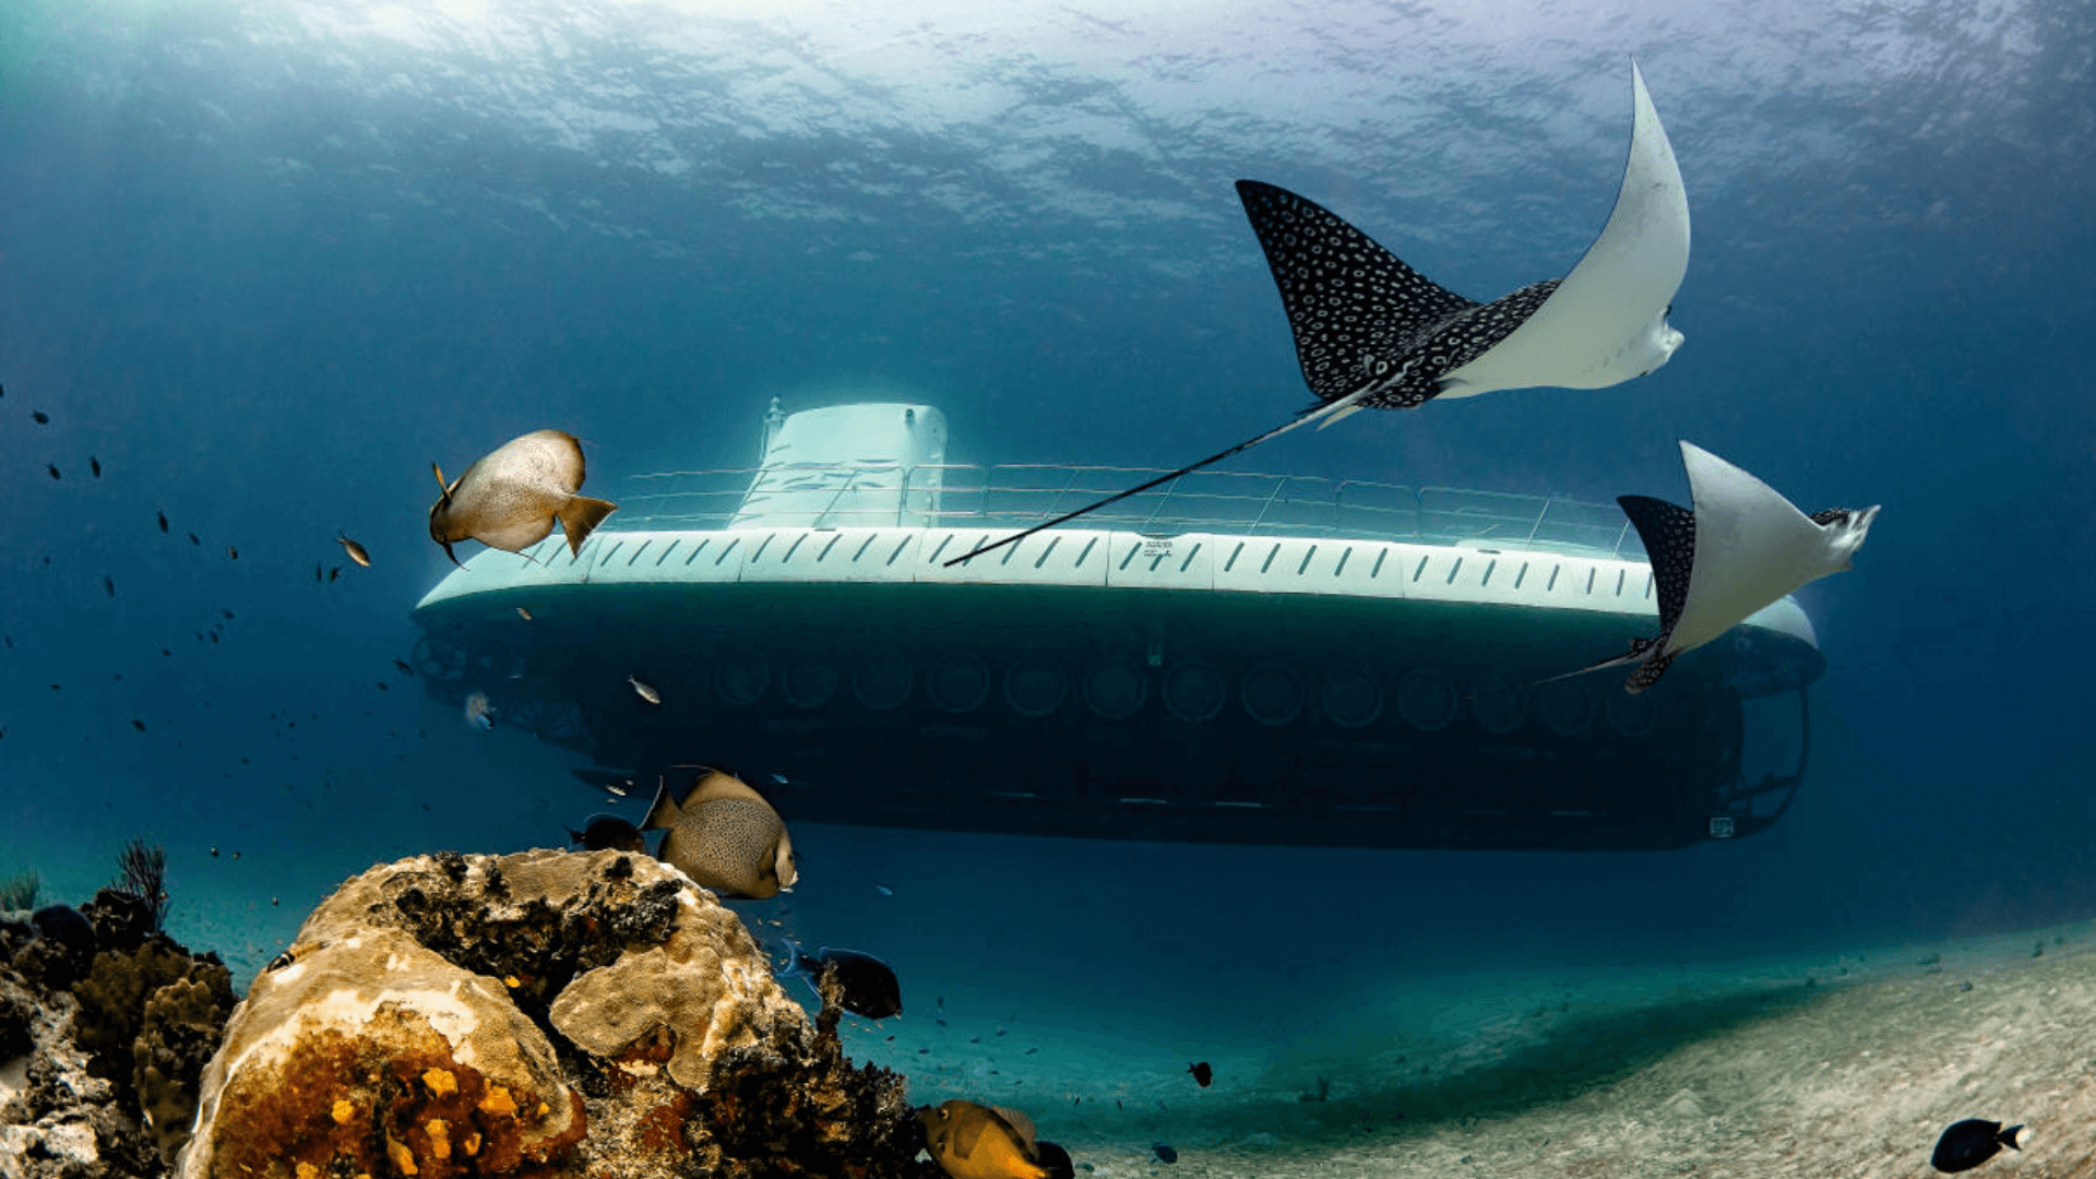
[[811,1028],[736,915],[648,856],[415,856],[256,978],[180,1175],[937,1177],[838,1015],[832,988]]

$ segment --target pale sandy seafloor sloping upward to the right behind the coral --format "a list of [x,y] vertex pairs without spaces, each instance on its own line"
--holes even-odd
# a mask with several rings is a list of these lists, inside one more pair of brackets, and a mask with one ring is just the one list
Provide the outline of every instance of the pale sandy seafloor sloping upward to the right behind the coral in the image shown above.
[[[224,854],[178,881],[170,929],[226,957],[241,990],[331,887],[275,852],[241,864],[310,896],[270,904],[241,885],[264,877]],[[57,896],[101,875],[46,858]],[[744,913],[761,934],[782,915]],[[1937,1133],[1966,1116],[2035,1131],[2025,1154],[1977,1175],[2096,1175],[2092,948],[2096,923],[2077,923],[1390,978],[1356,996],[1352,1024],[1214,1045],[1201,1053],[1216,1070],[1205,1091],[1182,1059],[1199,1043],[1197,1003],[1174,1028],[1117,1022],[1102,1003],[1021,1017],[987,994],[931,1009],[918,994],[903,1020],[847,1022],[847,1049],[908,1074],[914,1101],[1027,1110],[1079,1173],[1100,1177],[1920,1177],[1935,1175]],[[1306,1099],[1320,1076],[1327,1099]],[[1157,1141],[1178,1150],[1176,1164],[1155,1158]]]

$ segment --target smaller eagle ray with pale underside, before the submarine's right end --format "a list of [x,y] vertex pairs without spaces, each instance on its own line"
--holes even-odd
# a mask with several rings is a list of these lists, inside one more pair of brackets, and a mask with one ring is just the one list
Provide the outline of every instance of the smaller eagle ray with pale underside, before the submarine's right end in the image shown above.
[[1635,663],[1624,690],[1643,692],[1683,650],[1729,631],[1807,581],[1849,569],[1878,518],[1876,506],[1807,516],[1767,483],[1696,443],[1681,443],[1681,466],[1689,472],[1694,512],[1647,495],[1616,499],[1652,560],[1660,634],[1633,638],[1624,655],[1536,684]]

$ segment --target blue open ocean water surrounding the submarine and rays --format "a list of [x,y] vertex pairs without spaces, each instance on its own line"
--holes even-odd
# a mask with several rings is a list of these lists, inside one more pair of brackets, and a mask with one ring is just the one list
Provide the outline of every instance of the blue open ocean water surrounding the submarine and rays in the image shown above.
[[1235,178],[1497,298],[1608,218],[1635,55],[1694,216],[1673,363],[1230,468],[1685,501],[1691,438],[1807,510],[1884,503],[1798,594],[1828,669],[1775,829],[1503,854],[796,824],[803,887],[740,908],[897,965],[910,1013],[851,1045],[914,1097],[1031,1108],[1115,1166],[1314,1145],[1320,1076],[1373,1133],[1400,1072],[1541,1024],[2086,921],[2092,44],[2060,0],[15,0],[0,875],[84,900],[163,843],[174,934],[243,982],[371,862],[560,841],[583,762],[394,673],[449,571],[432,459],[564,428],[616,499],[748,466],[773,396],[870,394],[939,405],[954,462],[1188,462],[1312,403]]

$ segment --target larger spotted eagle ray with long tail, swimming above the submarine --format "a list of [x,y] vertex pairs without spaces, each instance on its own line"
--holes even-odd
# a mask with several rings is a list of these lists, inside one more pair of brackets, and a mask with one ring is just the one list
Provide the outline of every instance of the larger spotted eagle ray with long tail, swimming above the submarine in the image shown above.
[[1635,61],[1622,189],[1601,235],[1564,279],[1471,302],[1306,197],[1260,180],[1239,180],[1237,195],[1281,290],[1304,382],[1320,405],[1201,462],[981,543],[947,566],[1312,422],[1323,428],[1360,409],[1413,409],[1434,396],[1501,388],[1608,388],[1650,373],[1681,346],[1666,315],[1689,264],[1689,201]]

